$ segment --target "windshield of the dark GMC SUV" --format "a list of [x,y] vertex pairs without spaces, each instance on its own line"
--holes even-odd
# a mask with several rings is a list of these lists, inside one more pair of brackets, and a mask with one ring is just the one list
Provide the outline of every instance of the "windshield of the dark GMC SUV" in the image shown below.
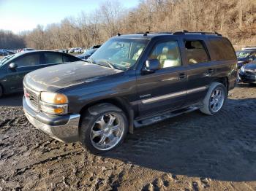
[[146,39],[110,39],[94,52],[90,61],[107,63],[115,69],[127,70],[135,65],[144,48]]

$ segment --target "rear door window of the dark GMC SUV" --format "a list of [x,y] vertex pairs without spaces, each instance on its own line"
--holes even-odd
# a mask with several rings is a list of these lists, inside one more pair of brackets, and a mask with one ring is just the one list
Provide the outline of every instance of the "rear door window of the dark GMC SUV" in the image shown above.
[[206,48],[200,40],[185,41],[187,61],[189,64],[209,61]]

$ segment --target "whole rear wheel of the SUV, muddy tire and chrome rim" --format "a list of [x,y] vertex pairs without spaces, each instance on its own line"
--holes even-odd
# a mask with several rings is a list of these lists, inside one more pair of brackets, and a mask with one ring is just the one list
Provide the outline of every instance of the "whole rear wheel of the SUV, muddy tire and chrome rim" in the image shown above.
[[213,82],[208,89],[206,97],[203,99],[203,107],[200,108],[200,112],[208,115],[217,114],[225,104],[226,98],[226,87],[219,82]]

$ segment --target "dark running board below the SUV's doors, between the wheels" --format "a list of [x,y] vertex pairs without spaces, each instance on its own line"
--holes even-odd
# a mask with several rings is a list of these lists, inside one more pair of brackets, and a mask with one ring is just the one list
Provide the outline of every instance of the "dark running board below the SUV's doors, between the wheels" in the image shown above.
[[178,109],[178,110],[173,111],[173,112],[170,112],[170,111],[163,112],[161,114],[155,115],[154,117],[148,117],[148,118],[143,118],[143,119],[140,119],[140,120],[135,120],[134,121],[134,126],[135,126],[135,128],[140,128],[140,127],[143,127],[143,126],[146,126],[146,125],[151,125],[151,124],[157,123],[157,122],[162,121],[162,120],[166,120],[166,119],[171,118],[171,117],[176,117],[176,116],[181,115],[181,114],[186,114],[186,113],[189,113],[189,112],[193,112],[197,109],[199,109],[199,107],[189,106],[187,108]]

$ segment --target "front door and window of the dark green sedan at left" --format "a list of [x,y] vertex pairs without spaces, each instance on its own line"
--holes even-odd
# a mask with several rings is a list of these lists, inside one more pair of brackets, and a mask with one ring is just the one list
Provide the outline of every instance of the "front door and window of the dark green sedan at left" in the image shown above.
[[[31,52],[20,56],[12,61],[17,65],[16,69],[7,67],[7,81],[11,91],[23,90],[23,78],[26,74],[36,69],[40,69],[42,55],[40,52]],[[9,63],[10,64],[10,63]]]

